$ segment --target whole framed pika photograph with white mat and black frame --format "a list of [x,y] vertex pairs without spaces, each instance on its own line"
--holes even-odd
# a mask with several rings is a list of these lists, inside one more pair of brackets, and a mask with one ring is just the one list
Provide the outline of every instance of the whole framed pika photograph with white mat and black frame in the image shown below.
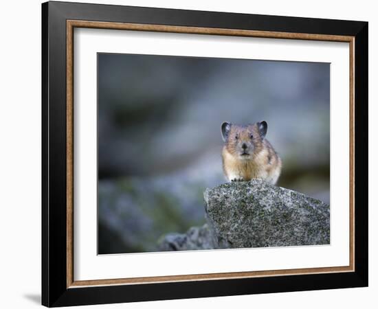
[[368,285],[368,23],[42,5],[42,304]]

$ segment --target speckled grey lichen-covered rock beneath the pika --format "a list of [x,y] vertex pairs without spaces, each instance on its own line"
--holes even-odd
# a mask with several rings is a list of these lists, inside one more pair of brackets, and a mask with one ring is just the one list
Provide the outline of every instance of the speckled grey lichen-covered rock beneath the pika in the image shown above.
[[208,225],[191,228],[186,234],[168,234],[160,243],[160,249],[288,247],[330,243],[329,205],[299,192],[252,179],[206,189],[204,198]]

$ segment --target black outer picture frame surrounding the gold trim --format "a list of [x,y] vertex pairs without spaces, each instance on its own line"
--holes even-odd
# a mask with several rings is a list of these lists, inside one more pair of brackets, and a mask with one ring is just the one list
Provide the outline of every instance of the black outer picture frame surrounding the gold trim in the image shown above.
[[[67,20],[355,38],[355,271],[67,287]],[[50,1],[42,4],[42,304],[74,306],[368,286],[368,23]]]

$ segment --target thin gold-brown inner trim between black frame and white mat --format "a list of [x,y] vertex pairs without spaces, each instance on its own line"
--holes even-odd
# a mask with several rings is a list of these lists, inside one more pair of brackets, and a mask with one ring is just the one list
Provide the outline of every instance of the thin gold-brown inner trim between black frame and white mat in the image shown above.
[[[297,268],[271,271],[245,271],[232,273],[208,273],[197,275],[169,275],[120,279],[74,280],[74,28],[109,30],[133,30],[171,32],[183,34],[210,34],[222,36],[249,36],[254,38],[281,38],[311,41],[335,41],[349,43],[349,266]],[[162,282],[185,282],[215,279],[241,279],[278,275],[309,275],[318,273],[342,273],[355,271],[355,37],[329,34],[306,34],[291,32],[267,32],[258,30],[235,30],[208,27],[185,27],[138,23],[109,23],[102,21],[67,20],[67,288],[84,286],[108,286],[120,284],[151,284]]]

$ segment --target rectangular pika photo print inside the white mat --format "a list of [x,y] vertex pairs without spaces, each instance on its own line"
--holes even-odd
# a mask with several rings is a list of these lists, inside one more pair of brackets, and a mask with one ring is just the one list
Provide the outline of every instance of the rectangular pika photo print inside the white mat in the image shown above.
[[98,53],[98,254],[330,244],[330,64]]

